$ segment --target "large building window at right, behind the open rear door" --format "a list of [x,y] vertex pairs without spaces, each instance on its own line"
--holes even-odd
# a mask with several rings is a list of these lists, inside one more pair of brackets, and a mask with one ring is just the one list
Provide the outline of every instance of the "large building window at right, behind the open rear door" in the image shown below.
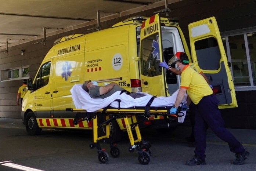
[[256,28],[222,38],[236,90],[256,90]]

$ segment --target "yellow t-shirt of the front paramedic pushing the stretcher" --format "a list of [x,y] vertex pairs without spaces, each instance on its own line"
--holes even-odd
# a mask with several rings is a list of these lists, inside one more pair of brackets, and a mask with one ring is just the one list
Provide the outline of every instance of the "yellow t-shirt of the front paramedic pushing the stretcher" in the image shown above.
[[213,91],[203,76],[189,66],[183,68],[180,88],[186,88],[192,102],[198,104],[204,96],[213,94]]

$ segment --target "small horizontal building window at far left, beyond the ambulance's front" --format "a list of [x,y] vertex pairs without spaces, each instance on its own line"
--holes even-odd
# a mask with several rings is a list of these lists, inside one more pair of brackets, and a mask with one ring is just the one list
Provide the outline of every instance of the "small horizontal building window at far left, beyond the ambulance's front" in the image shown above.
[[1,70],[1,81],[29,79],[29,66]]

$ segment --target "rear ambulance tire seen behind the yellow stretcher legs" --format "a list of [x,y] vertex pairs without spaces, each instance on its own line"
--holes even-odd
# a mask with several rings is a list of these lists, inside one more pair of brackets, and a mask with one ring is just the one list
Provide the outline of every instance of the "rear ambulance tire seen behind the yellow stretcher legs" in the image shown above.
[[[105,120],[105,116],[99,115],[100,117],[98,117],[98,123],[102,123]],[[116,120],[112,120],[111,123],[109,123],[109,127],[110,127],[110,136],[109,138],[113,141],[113,142],[119,142],[122,140],[123,138],[123,131],[120,130],[120,127],[118,125],[118,123],[116,122]],[[98,135],[99,137],[106,135],[106,127],[101,127],[98,129]]]

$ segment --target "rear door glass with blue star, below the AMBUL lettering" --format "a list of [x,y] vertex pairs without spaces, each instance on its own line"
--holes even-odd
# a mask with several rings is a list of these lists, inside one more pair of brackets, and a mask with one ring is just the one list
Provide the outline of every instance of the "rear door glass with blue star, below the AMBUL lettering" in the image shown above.
[[158,33],[152,34],[141,41],[141,74],[148,77],[161,75],[159,70],[160,56]]

